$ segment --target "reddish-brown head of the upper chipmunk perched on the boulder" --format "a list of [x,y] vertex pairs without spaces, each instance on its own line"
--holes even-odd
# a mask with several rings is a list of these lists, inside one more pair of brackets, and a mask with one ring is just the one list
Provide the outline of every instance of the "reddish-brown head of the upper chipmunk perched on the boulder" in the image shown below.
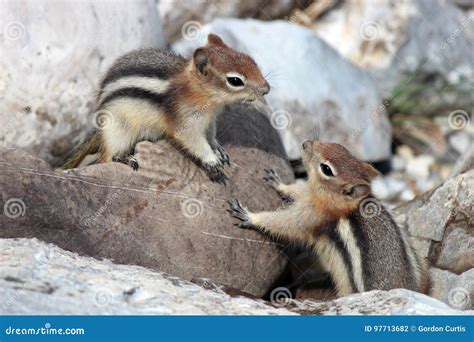
[[215,34],[211,33],[207,39],[205,47],[194,51],[194,69],[218,101],[253,101],[270,91],[270,85],[250,56],[231,49]]

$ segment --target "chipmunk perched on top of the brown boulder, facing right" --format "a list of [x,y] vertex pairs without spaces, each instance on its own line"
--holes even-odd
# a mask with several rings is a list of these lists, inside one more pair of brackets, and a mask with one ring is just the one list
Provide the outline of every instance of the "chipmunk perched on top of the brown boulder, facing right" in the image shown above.
[[110,115],[63,165],[77,167],[99,153],[98,162],[118,161],[134,170],[137,142],[169,139],[215,181],[225,179],[229,156],[216,141],[217,114],[226,104],[253,101],[270,91],[255,61],[209,34],[192,58],[157,49],[132,51],[105,74],[97,112]]

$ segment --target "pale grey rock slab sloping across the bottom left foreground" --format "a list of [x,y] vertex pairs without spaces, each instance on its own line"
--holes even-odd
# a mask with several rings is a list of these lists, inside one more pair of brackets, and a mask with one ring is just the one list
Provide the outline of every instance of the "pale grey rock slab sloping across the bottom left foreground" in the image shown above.
[[0,314],[289,315],[166,273],[116,265],[36,239],[0,239]]

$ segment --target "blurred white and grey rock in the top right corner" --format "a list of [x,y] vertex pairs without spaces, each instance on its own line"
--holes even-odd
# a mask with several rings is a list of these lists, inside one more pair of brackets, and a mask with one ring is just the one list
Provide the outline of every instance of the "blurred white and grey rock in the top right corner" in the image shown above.
[[[379,0],[377,6],[346,1],[318,19],[314,30],[344,57],[370,69],[383,95],[390,96],[406,72],[418,67],[424,75],[440,75],[453,84],[462,76],[472,79],[473,22],[473,13],[452,1]],[[468,92],[443,96],[443,101],[472,106]]]

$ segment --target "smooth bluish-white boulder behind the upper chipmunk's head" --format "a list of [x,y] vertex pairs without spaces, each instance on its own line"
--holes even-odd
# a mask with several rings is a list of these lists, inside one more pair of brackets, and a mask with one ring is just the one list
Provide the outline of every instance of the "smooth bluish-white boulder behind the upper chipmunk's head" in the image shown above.
[[173,48],[189,56],[209,32],[249,53],[269,73],[271,120],[290,158],[299,157],[301,142],[315,136],[342,143],[365,160],[390,155],[391,129],[376,83],[314,32],[285,21],[217,19],[197,39]]

